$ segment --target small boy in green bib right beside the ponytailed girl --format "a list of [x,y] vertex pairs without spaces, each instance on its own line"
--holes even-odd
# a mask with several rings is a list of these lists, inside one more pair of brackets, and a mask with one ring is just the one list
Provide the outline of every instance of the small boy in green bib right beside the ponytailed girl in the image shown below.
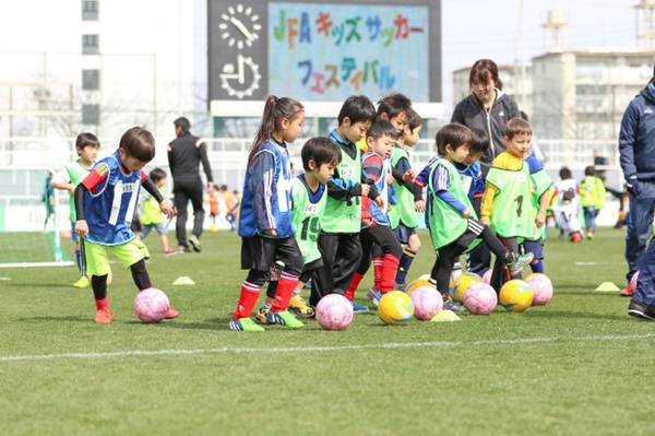
[[[300,293],[317,268],[323,264],[321,252],[317,247],[321,229],[321,216],[325,212],[327,186],[334,168],[341,162],[338,146],[327,138],[312,138],[300,151],[305,173],[293,180],[291,214],[296,228],[296,241],[302,252],[305,268],[289,302],[289,310],[299,317],[314,316],[314,309],[307,305]],[[267,325],[267,315],[277,292],[277,279],[283,264],[275,263],[271,268],[271,279],[266,290],[266,299],[255,315],[254,322]]]

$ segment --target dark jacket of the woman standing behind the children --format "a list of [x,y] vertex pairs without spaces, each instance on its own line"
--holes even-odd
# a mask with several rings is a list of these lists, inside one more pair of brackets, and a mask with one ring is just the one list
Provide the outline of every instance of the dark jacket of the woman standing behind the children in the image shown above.
[[489,150],[480,157],[483,174],[487,175],[491,162],[507,150],[504,144],[504,128],[512,118],[520,117],[519,105],[501,90],[496,89],[496,101],[489,111],[483,102],[471,93],[457,103],[451,122],[458,122],[469,129],[481,129],[487,132],[491,144]]

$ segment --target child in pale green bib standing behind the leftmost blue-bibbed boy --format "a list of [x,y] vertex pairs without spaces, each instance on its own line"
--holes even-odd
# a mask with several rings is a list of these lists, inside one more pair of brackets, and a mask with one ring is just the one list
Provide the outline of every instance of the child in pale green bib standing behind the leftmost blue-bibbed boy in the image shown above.
[[[71,162],[58,172],[50,185],[52,188],[68,190],[70,192],[70,216],[71,216],[71,238],[75,243],[75,259],[78,261],[78,269],[82,272],[82,256],[80,252],[80,239],[74,232],[75,222],[75,200],[74,193],[75,188],[80,182],[88,176],[91,169],[95,165],[95,160],[98,157],[100,150],[100,141],[93,133],[80,133],[75,139],[75,151],[78,152],[78,160]],[[73,283],[74,287],[85,288],[91,286],[88,278],[84,274]]]

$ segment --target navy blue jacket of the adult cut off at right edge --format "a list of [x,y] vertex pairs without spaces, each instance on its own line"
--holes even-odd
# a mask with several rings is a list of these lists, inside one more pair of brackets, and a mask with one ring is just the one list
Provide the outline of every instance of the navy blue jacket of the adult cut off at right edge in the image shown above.
[[619,133],[620,164],[628,179],[655,180],[655,98],[647,89],[630,102]]

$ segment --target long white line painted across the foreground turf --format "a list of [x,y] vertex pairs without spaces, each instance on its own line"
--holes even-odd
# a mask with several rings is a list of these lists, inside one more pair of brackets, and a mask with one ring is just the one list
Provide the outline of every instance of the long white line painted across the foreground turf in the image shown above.
[[445,347],[445,346],[475,346],[475,345],[520,345],[539,342],[575,342],[575,341],[629,341],[655,338],[655,333],[630,334],[630,335],[594,335],[580,338],[526,338],[526,339],[493,339],[484,341],[441,341],[441,342],[410,342],[410,343],[381,343],[362,345],[335,345],[335,346],[274,346],[270,349],[258,347],[218,347],[201,350],[133,350],[116,351],[111,353],[63,353],[41,355],[14,355],[0,356],[0,362],[16,361],[49,361],[55,358],[105,358],[105,357],[129,357],[129,356],[162,356],[184,354],[214,354],[214,353],[307,353],[307,352],[334,352],[348,350],[384,350],[384,349],[418,349],[418,347]]

